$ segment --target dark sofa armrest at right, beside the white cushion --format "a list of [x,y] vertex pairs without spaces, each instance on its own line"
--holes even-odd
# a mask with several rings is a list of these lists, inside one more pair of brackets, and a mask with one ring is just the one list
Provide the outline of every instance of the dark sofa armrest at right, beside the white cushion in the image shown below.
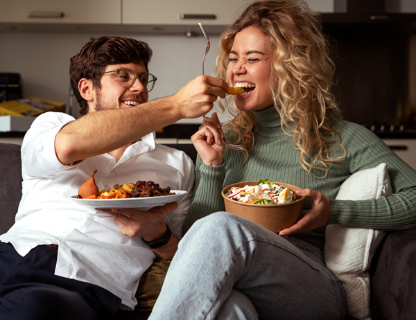
[[370,267],[373,320],[416,319],[416,227],[388,233]]

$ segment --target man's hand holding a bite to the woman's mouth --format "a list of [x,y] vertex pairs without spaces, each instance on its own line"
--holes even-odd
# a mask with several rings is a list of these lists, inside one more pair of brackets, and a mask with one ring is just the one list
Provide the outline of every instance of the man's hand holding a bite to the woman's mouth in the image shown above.
[[198,118],[211,111],[218,97],[225,98],[227,88],[227,82],[221,78],[200,75],[177,91],[172,98],[182,118]]

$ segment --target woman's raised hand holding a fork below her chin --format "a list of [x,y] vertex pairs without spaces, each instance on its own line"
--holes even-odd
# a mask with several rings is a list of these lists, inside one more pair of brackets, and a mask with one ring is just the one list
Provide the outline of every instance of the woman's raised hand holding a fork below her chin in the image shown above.
[[221,130],[221,124],[216,112],[214,112],[212,118],[204,118],[200,130],[191,136],[191,141],[202,162],[211,167],[221,166],[224,162],[226,147],[221,140],[223,134],[218,129]]

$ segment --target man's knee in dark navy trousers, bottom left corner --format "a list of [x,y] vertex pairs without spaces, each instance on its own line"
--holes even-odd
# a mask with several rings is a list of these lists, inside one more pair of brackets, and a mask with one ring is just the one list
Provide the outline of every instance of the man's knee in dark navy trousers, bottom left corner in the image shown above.
[[24,287],[0,299],[1,319],[98,319],[78,292],[59,287]]

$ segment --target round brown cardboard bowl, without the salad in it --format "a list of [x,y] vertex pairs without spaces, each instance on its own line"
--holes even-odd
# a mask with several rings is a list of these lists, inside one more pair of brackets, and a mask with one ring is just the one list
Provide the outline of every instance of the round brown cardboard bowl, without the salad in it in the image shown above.
[[[245,184],[254,186],[258,182],[258,180],[242,181],[236,184],[230,184],[223,188],[221,195],[224,198],[225,211],[245,217],[245,219],[256,222],[275,233],[278,233],[289,226],[293,226],[293,224],[300,219],[305,197],[301,197],[300,199],[287,204],[246,204],[229,199],[225,196],[225,193],[232,187],[241,187]],[[275,182],[275,184],[282,185],[293,191],[300,189],[297,186],[284,184],[282,182]]]

